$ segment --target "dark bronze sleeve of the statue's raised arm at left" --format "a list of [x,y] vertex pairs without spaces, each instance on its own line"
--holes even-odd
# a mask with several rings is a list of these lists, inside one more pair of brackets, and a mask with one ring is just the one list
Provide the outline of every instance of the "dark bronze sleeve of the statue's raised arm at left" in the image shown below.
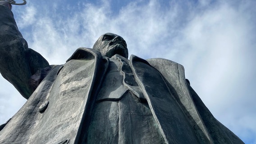
[[29,49],[18,30],[14,15],[0,5],[0,73],[26,99],[33,93],[30,78],[49,63],[36,51]]

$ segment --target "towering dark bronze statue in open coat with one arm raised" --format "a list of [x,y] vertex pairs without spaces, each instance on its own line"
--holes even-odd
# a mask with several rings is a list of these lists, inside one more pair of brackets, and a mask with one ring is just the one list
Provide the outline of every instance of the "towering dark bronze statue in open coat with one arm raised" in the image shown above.
[[182,65],[131,55],[106,33],[64,65],[28,48],[0,3],[0,72],[27,99],[0,144],[243,144],[213,117]]

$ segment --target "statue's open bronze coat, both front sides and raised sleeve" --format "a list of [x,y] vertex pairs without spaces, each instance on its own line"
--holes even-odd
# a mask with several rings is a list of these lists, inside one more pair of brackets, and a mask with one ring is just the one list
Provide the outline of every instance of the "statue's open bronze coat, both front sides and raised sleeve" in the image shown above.
[[[5,25],[0,23],[0,27]],[[16,26],[16,23],[13,20],[9,25]],[[18,28],[12,27],[8,31],[16,31],[17,34]],[[90,118],[109,59],[93,49],[79,48],[64,65],[49,66],[40,54],[27,48],[20,33],[16,37],[0,46],[27,54],[25,60],[18,62],[28,67],[23,68],[24,71],[30,70],[26,73],[27,78],[37,75],[40,63],[43,63],[41,68],[51,68],[33,91],[27,84],[28,80],[14,78],[19,72],[9,70],[11,74],[8,74],[8,67],[1,65],[1,74],[24,97],[29,93],[32,95],[0,131],[0,144],[79,144],[87,130],[87,119]],[[7,54],[6,50],[1,49],[1,57],[4,54]],[[3,63],[6,59],[2,57],[0,60]],[[12,58],[8,61],[15,62]],[[129,63],[165,143],[243,144],[206,108],[185,79],[182,65],[163,58],[144,60],[134,55]],[[23,81],[25,86],[19,86]]]

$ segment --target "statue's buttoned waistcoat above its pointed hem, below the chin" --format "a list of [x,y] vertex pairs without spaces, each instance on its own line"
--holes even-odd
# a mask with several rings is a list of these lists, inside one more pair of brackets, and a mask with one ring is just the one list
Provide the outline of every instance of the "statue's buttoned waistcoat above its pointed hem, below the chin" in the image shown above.
[[139,99],[146,100],[133,76],[128,60],[118,56],[110,58],[108,70],[102,81],[96,101],[120,100],[127,91],[131,91]]

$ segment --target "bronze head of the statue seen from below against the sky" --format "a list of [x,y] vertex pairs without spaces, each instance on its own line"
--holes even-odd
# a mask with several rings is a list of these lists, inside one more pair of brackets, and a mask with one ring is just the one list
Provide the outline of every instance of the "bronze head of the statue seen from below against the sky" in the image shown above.
[[115,54],[120,54],[128,58],[128,49],[125,40],[121,36],[113,33],[105,33],[93,45],[93,49],[101,52],[102,55],[111,58]]

